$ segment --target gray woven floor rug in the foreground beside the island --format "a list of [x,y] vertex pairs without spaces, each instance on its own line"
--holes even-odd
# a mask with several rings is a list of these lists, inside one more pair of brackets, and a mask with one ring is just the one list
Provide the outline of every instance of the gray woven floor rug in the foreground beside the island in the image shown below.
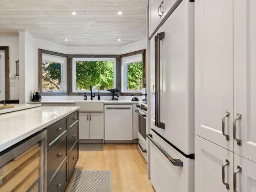
[[78,170],[69,192],[111,192],[110,170]]

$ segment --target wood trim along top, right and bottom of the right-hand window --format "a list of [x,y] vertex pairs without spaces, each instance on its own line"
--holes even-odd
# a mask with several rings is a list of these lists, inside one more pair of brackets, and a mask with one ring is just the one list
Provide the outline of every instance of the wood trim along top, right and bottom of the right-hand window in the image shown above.
[[[120,55],[120,57],[122,59],[122,57],[129,57],[129,56],[138,55],[138,54],[142,54],[142,65],[143,65],[142,88],[146,88],[146,49],[142,49],[142,50],[138,50],[138,51],[133,51],[133,52],[130,52],[130,53],[125,53],[125,54]],[[138,92],[121,92],[121,95],[126,95],[126,96],[142,96],[142,93],[138,93]]]

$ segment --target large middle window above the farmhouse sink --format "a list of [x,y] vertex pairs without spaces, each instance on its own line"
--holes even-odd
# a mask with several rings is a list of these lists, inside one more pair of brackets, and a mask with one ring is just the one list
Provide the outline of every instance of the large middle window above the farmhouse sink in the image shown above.
[[73,92],[115,88],[115,58],[73,58]]

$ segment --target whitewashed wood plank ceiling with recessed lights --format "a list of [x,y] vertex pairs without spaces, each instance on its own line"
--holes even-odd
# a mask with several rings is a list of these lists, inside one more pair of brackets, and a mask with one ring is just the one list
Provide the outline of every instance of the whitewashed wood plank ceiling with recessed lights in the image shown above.
[[147,0],[0,0],[0,35],[26,30],[65,45],[120,46],[146,37],[146,5]]

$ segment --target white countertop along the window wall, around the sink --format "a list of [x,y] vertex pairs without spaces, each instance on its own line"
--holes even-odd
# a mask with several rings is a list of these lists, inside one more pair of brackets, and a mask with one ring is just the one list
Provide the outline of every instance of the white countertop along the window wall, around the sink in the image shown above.
[[53,100],[53,101],[30,101],[30,104],[75,104],[76,101],[84,101],[84,102],[103,102],[104,104],[136,104],[139,101],[131,101],[131,100]]

